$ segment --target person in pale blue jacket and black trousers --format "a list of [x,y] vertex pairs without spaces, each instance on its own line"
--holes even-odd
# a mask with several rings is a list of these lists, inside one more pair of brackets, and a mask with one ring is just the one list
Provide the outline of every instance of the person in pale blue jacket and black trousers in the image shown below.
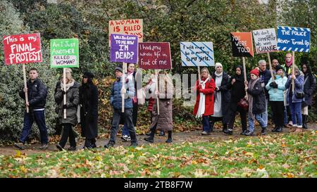
[[284,116],[284,94],[285,83],[287,81],[287,77],[284,76],[284,70],[280,65],[275,67],[276,74],[274,75],[274,82],[271,78],[266,84],[266,89],[268,90],[268,94],[270,95],[270,105],[271,110],[273,112],[273,122],[275,124],[275,128],[272,132],[282,132],[283,127],[283,119]]

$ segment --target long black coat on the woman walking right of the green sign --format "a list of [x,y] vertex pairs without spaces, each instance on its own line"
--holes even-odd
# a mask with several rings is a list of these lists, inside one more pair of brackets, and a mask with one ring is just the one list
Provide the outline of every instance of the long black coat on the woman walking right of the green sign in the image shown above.
[[82,136],[87,139],[98,136],[98,89],[94,84],[80,86],[80,125]]

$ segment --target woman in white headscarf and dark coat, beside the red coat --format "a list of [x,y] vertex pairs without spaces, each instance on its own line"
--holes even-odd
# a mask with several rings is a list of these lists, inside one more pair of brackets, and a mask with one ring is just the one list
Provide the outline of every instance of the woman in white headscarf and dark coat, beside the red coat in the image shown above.
[[[223,132],[228,129],[228,113],[230,106],[230,91],[228,90],[228,84],[230,83],[230,76],[223,71],[223,65],[216,63],[216,71],[211,75],[216,83],[215,90],[215,103],[213,105],[213,115],[210,116],[211,132],[213,131],[213,125],[217,121],[223,122]],[[218,86],[217,86],[218,85]],[[219,105],[220,104],[220,105]]]

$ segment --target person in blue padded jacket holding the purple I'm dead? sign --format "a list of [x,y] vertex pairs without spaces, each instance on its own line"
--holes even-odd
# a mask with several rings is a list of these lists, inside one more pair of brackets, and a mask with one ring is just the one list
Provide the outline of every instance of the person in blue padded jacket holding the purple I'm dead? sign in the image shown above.
[[[111,148],[116,143],[116,135],[118,132],[118,125],[120,118],[123,117],[123,121],[127,124],[129,134],[131,136],[131,145],[137,146],[137,135],[135,134],[135,126],[133,125],[132,113],[133,103],[132,98],[135,96],[135,85],[128,78],[123,78],[123,69],[121,65],[118,65],[115,69],[116,81],[113,82],[111,89],[110,103],[113,106],[113,120],[110,133],[110,140],[105,148]],[[122,79],[125,79],[125,87],[123,87]],[[122,112],[122,94],[125,94],[124,99],[124,112]]]

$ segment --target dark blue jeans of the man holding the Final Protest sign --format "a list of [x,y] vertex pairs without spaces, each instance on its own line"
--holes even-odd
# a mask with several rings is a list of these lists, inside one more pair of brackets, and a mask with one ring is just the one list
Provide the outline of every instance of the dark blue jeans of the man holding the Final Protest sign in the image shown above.
[[49,138],[47,137],[47,128],[45,125],[45,110],[30,110],[29,113],[24,113],[24,124],[20,142],[25,143],[27,136],[30,134],[30,130],[34,121],[37,123],[37,127],[39,127],[41,143],[49,143]]

